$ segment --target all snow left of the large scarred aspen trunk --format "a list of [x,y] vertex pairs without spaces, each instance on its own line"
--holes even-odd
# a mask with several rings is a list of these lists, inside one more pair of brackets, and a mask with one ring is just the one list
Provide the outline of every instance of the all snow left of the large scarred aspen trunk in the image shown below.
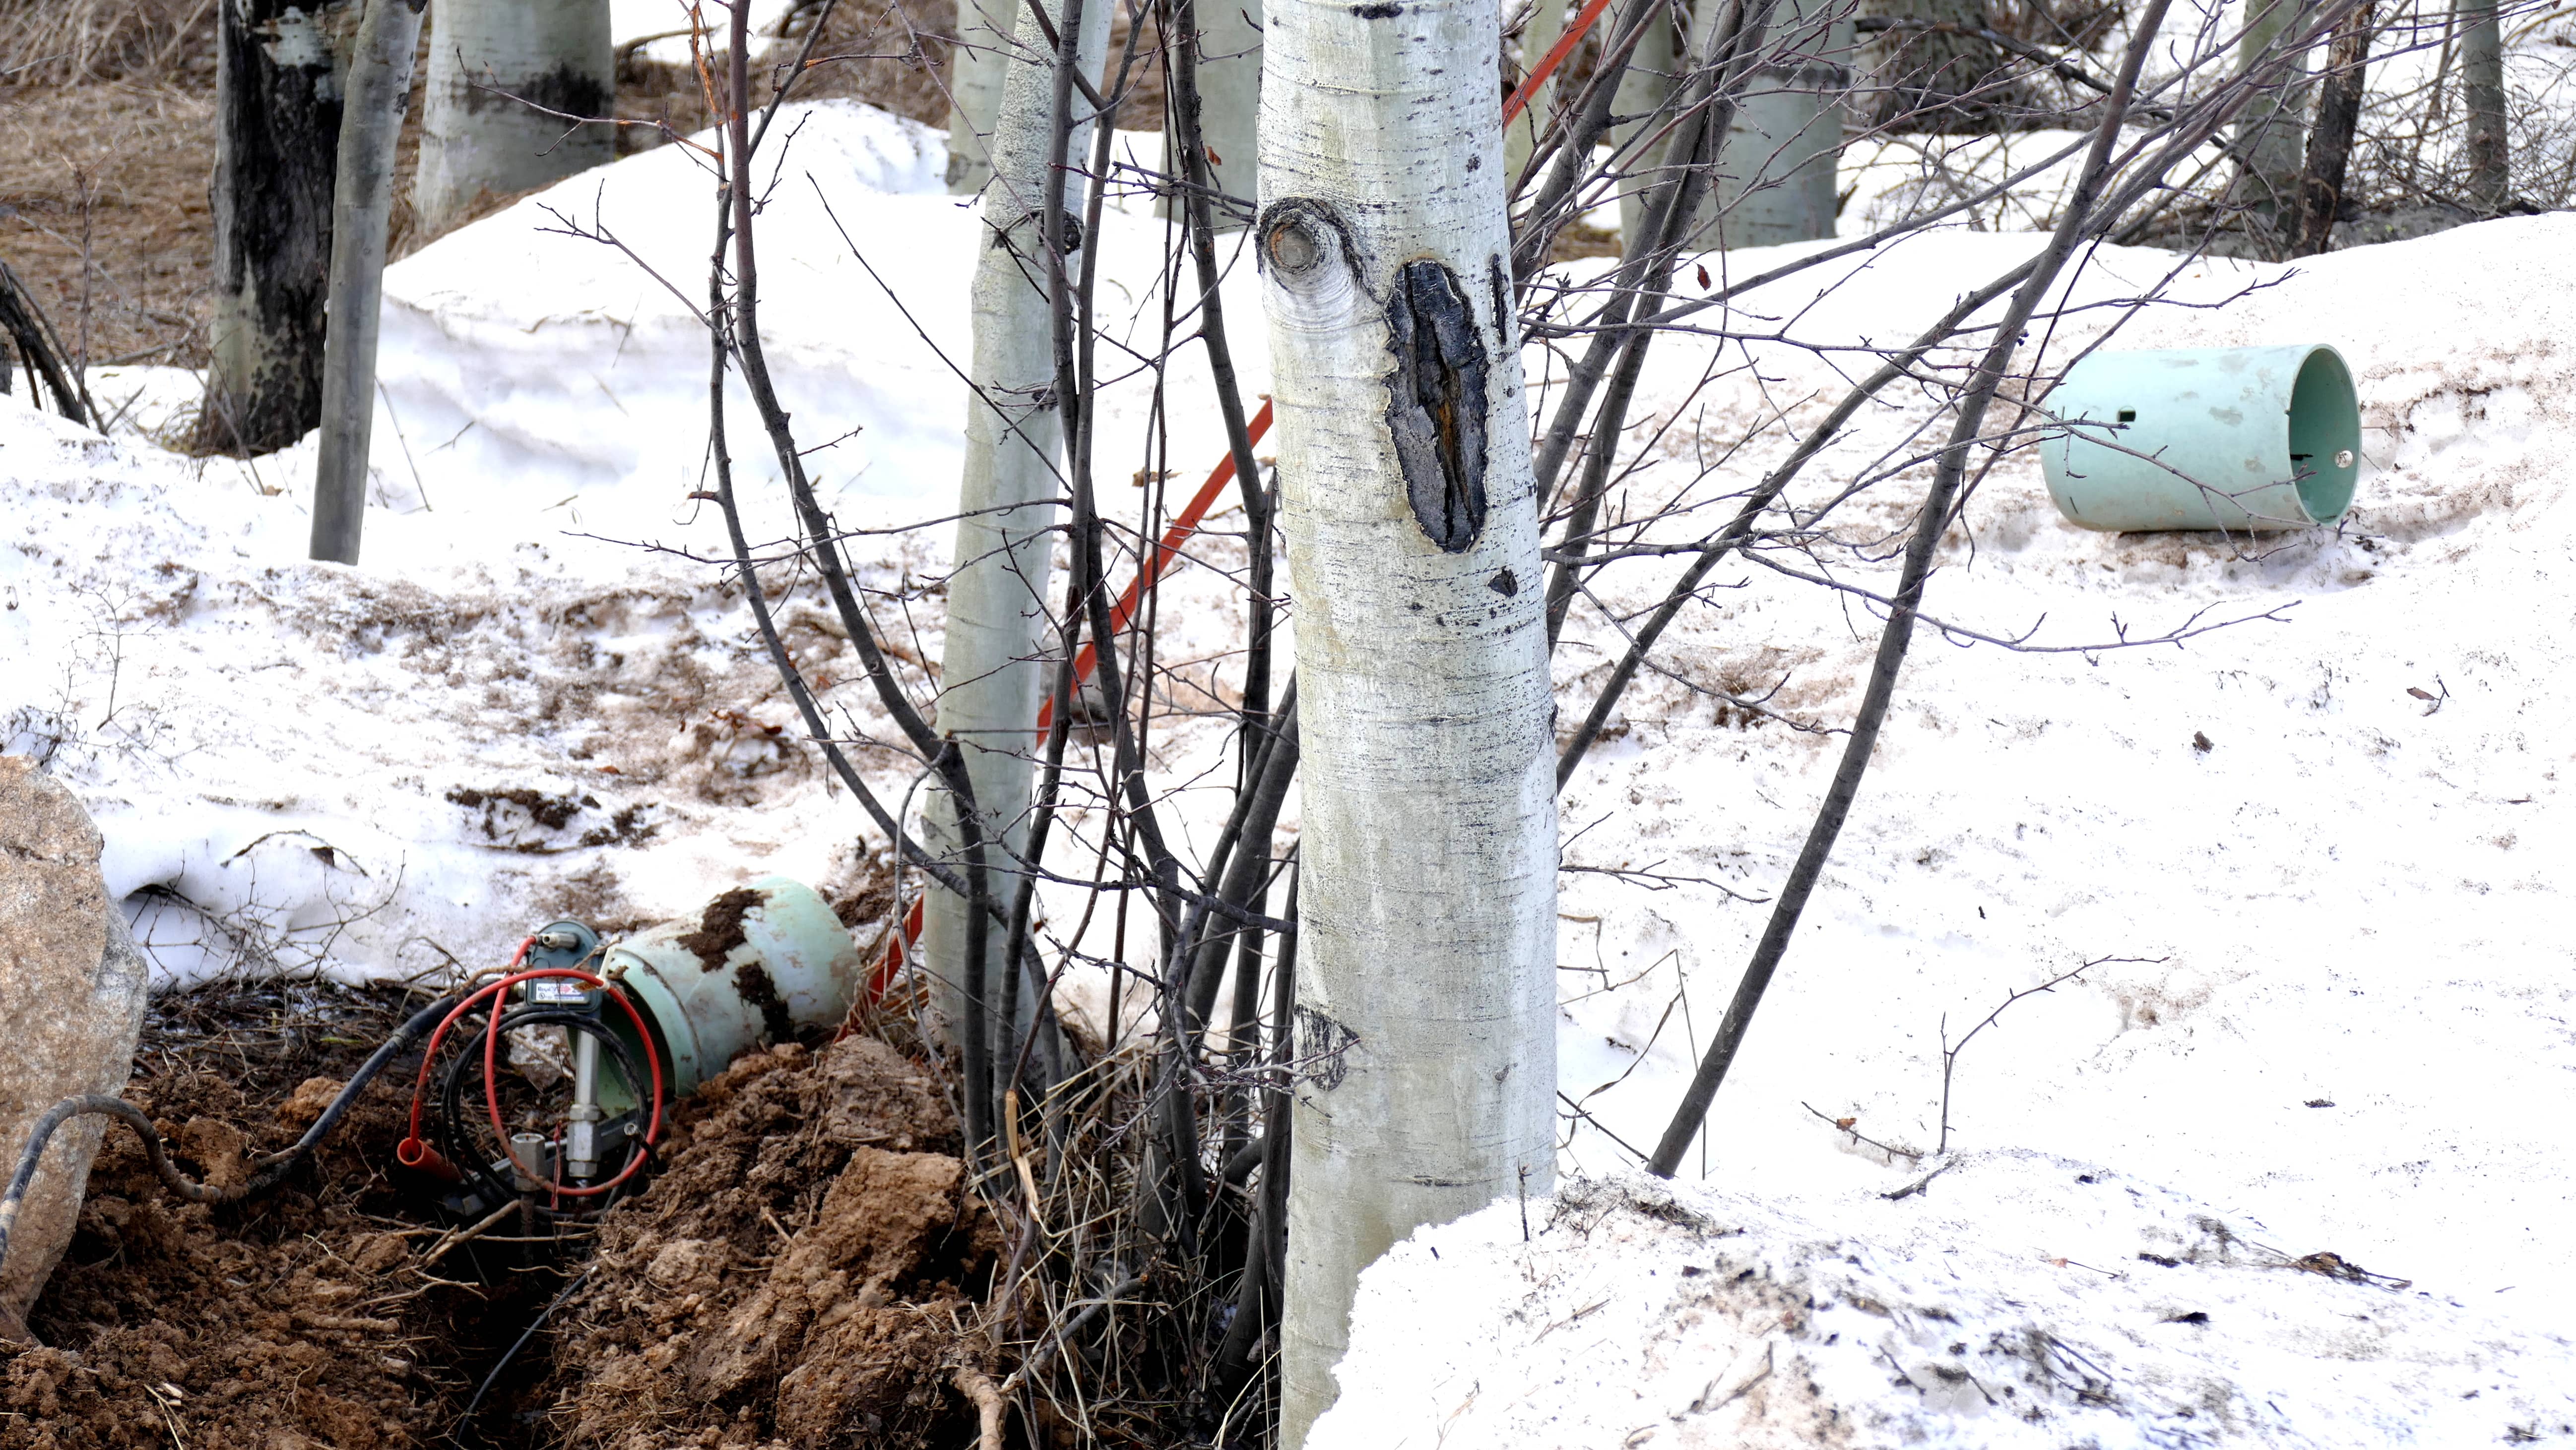
[[[788,106],[762,157],[773,373],[824,507],[868,531],[848,549],[878,628],[938,659],[966,415],[943,353],[966,345],[974,216],[940,185],[943,139],[868,106]],[[559,914],[629,927],[770,871],[848,886],[855,842],[881,845],[799,744],[714,564],[721,520],[688,497],[706,487],[714,198],[698,152],[659,147],[386,270],[358,569],[304,559],[314,438],[255,461],[155,443],[196,404],[193,373],[100,368],[113,438],[0,399],[0,659],[18,667],[0,747],[90,804],[165,979],[487,966]],[[1103,265],[1139,299],[1113,337],[1159,319],[1141,301],[1159,242],[1149,201],[1113,201]],[[1229,301],[1257,317],[1239,273]],[[1262,363],[1249,348],[1247,386]],[[1105,399],[1128,453],[1151,384]],[[1170,386],[1206,397],[1195,350]],[[778,466],[739,381],[726,420],[752,536],[778,538]],[[1216,458],[1213,410],[1172,422],[1175,458]],[[811,579],[781,569],[770,590],[824,706],[886,734]],[[1234,618],[1195,569],[1164,598],[1211,631]],[[904,798],[902,757],[860,762]]]

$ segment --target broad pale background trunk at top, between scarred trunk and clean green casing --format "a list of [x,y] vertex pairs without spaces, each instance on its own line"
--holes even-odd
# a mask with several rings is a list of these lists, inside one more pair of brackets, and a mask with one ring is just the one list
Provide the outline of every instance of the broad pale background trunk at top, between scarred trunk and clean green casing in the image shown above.
[[[1716,0],[1700,0],[1716,5]],[[1775,13],[1770,64],[1752,75],[1718,152],[1718,245],[1777,247],[1834,234],[1834,160],[1852,88],[1852,3],[1798,0]]]

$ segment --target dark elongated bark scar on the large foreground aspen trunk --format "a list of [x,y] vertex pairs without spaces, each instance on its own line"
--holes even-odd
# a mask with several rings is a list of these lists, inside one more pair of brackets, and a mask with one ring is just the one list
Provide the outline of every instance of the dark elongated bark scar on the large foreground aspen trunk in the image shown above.
[[1386,301],[1386,428],[1414,520],[1458,554],[1484,528],[1486,350],[1458,273],[1422,258],[1396,273]]

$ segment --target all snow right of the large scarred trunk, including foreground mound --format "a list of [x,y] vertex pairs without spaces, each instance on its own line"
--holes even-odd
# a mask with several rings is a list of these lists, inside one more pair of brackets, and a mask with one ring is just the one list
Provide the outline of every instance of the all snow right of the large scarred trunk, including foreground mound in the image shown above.
[[[1731,327],[1826,345],[1901,337],[2032,245],[1932,237],[1857,263],[1821,306],[1806,306],[1814,283],[1747,299]],[[1739,276],[1770,260],[1726,258]],[[2576,1290],[2576,1192],[2566,1136],[2545,1128],[2576,1115],[2576,901],[2558,871],[2576,847],[2576,639],[2558,605],[2576,556],[2576,355],[2563,343],[2576,327],[2576,219],[2465,227],[2295,268],[2105,247],[2074,296],[2136,294],[2177,265],[2174,304],[2076,314],[2048,348],[2071,355],[2115,317],[2117,348],[2339,345],[2365,410],[2352,518],[2244,554],[2215,536],[2094,536],[2056,518],[2032,458],[1996,466],[1945,546],[1932,616],[2040,646],[2151,636],[2195,610],[2275,610],[2277,623],[2045,657],[1919,636],[1826,883],[1685,1156],[1685,1177],[1705,1174],[1685,1203],[1747,1231],[1728,1272],[1759,1262],[1757,1280],[1801,1306],[1808,1293],[1842,1301],[1847,1285],[1976,1326],[1950,1334],[1911,1308],[1878,1319],[1844,1306],[1819,1311],[1806,1339],[1783,1332],[1777,1355],[1795,1350],[1821,1386],[1814,1406],[1842,1414],[1834,1435],[1855,1445],[2465,1445],[2512,1424],[2555,1437],[2576,1422],[2550,1398],[2576,1383],[2558,1339]],[[1641,433],[1664,430],[1672,464],[1638,484],[1636,513],[1672,497],[1718,440],[1780,410],[1814,417],[1839,384],[1829,361],[1752,343],[1677,350],[1651,394]],[[1927,420],[1927,399],[1901,397],[1865,415],[1808,500],[1891,448],[1924,448],[1906,438]],[[1775,446],[1726,458],[1700,487],[1741,487]],[[1862,507],[1842,531],[1901,528],[1896,502]],[[1868,569],[1850,577],[1883,587]],[[1610,582],[1605,605],[1651,605],[1662,582],[1641,569]],[[1862,600],[1752,567],[1710,585],[1708,608],[1667,636],[1674,677],[1641,683],[1618,739],[1564,798],[1571,865],[1656,873],[1564,881],[1558,1051],[1582,1110],[1566,1162],[1589,1172],[1620,1172],[1664,1131],[1842,749],[1713,693],[1767,695],[1780,716],[1839,726],[1875,646],[1878,616]],[[1577,621],[1558,654],[1561,708],[1589,698],[1620,644],[1600,613]],[[1929,1164],[1942,1046],[2007,992],[2094,958],[2110,961],[2014,1004],[1960,1059],[1953,1146],[2027,1156],[1971,1156],[1942,1177],[1935,1208],[1955,1218],[1937,1231],[1909,1226],[1922,1203],[1873,1198]],[[1857,1136],[1837,1131],[1839,1118]],[[2066,1167],[2050,1180],[2061,1162],[2117,1174],[2076,1185],[2089,1169]],[[2128,1198],[2148,1182],[2172,1195]],[[2092,1239],[2074,1231],[2097,1221],[2089,1203],[2112,1198],[2123,1218]],[[2187,1257],[2141,1234],[2192,1213],[2290,1254],[2331,1247],[2432,1298],[2254,1257],[2190,1270],[2136,1259]],[[1633,1213],[1607,1221],[1628,1229],[1592,1244],[1558,1231],[1546,1272],[1561,1285],[1528,1303],[1515,1295],[1538,1293],[1530,1283],[1466,1288],[1476,1265],[1499,1272],[1476,1257],[1484,1249],[1468,1267],[1425,1267],[1427,1249],[1406,1249],[1355,1319],[1345,1368],[1352,1386],[1376,1388],[1319,1445],[1399,1442],[1373,1424],[1394,1424],[1406,1393],[1401,1424],[1419,1445],[1435,1442],[1419,1409],[1430,1398],[1437,1417],[1458,1414],[1450,1445],[1618,1445],[1649,1427],[1636,1442],[1731,1442],[1726,1417],[1669,1417],[1757,1334],[1695,1329],[1677,1290],[1646,1277],[1723,1244],[1698,1249],[1692,1231]],[[1443,1234],[1425,1244],[1453,1257]],[[1517,1210],[1461,1234],[1517,1247]],[[1844,1241],[1865,1267],[1798,1249],[1808,1239]],[[2210,1259],[2205,1239],[2169,1244],[2200,1244]],[[2128,1280],[2038,1270],[2045,1257]],[[1538,1283],[1558,1283],[1546,1272]],[[1984,1288],[1968,1293],[1953,1272]],[[2092,1308],[2061,1313],[2043,1280],[2084,1283]],[[1558,1293],[1564,1303],[1548,1298]],[[1610,1308],[1535,1342],[1605,1298]],[[1728,1303],[1736,1324],[1765,1301]],[[2210,1326],[2159,1319],[2182,1311],[2208,1311]],[[1388,1368],[1394,1344],[1427,1324],[1443,1326],[1437,1355],[1473,1370],[1445,1398],[1422,1391],[1437,1378],[1427,1365],[1409,1388]],[[1855,1339],[1852,1324],[1868,1334]],[[2087,1409],[2074,1368],[2017,1360],[2012,1344],[2030,1344],[2032,1326],[2089,1355],[2120,1401]],[[1842,1342],[1824,1344],[1837,1332]],[[1850,1357],[1855,1342],[1865,1357]],[[1950,1355],[1953,1342],[1968,1350]],[[1553,1386],[1564,1365],[1602,1365],[1613,1388],[1564,1391],[1574,1409],[1551,1424],[1543,1406],[1558,1391],[1533,1386]],[[1937,1368],[1973,1373],[1996,1398],[2022,1386],[2004,1411],[2027,1406],[2050,1373],[2061,1383],[2045,1424],[2025,1432]],[[1461,1409],[1479,1375],[1481,1398]],[[1788,1383],[1777,1375],[1772,1393],[1790,1396]],[[2202,1404],[2208,1386],[2226,1388],[2218,1404]],[[2481,1398],[2463,1398],[2470,1391]],[[1795,1404],[1765,1409],[1788,1419],[1762,1419],[1772,1440],[1749,1442],[1803,1442]]]

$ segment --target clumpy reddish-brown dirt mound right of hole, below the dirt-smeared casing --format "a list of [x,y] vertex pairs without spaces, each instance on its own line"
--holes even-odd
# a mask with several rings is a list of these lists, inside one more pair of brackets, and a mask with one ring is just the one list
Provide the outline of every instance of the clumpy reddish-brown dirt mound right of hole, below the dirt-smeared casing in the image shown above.
[[737,1061],[600,1229],[536,1401],[567,1447],[963,1445],[997,1231],[930,1077],[873,1038]]

